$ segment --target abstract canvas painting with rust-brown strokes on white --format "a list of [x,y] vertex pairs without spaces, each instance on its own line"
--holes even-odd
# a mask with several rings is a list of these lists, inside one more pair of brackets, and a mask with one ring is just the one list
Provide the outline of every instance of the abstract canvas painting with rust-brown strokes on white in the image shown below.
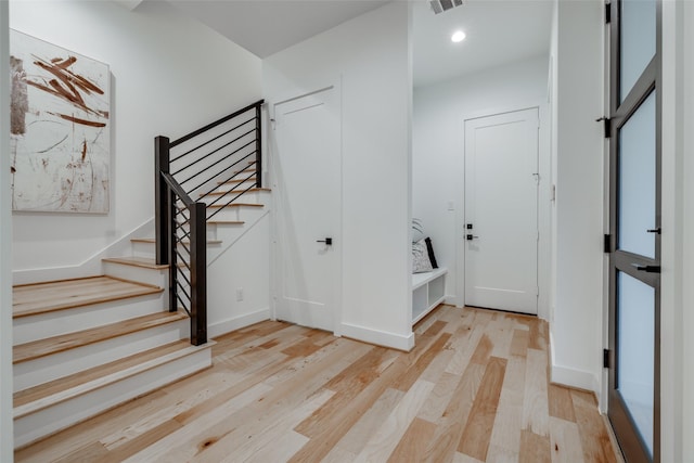
[[110,72],[10,33],[12,209],[108,213]]

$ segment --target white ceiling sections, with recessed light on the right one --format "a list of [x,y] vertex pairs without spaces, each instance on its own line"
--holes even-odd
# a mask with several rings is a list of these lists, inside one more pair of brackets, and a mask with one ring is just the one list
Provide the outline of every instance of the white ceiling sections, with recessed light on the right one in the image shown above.
[[[389,0],[169,1],[257,56],[266,57]],[[438,15],[432,12],[428,1],[412,3],[415,87],[549,51],[551,0],[464,0],[462,7]],[[467,38],[452,43],[450,36],[458,28]]]

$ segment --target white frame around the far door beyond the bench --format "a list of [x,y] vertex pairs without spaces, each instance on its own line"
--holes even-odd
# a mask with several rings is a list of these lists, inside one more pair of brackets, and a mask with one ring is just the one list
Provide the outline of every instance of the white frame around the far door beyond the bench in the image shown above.
[[[543,320],[551,319],[551,294],[550,286],[550,265],[551,265],[551,214],[553,214],[554,201],[552,197],[552,184],[554,180],[551,178],[552,166],[550,158],[550,127],[548,102],[530,101],[526,104],[513,106],[492,107],[479,112],[470,113],[463,116],[460,121],[460,129],[463,133],[462,143],[458,147],[459,156],[457,157],[455,177],[461,179],[457,182],[457,197],[460,206],[455,210],[455,298],[452,300],[457,306],[465,305],[465,121],[478,119],[480,117],[496,116],[504,113],[513,113],[516,111],[538,108],[540,119],[540,128],[538,133],[538,170],[540,172],[540,184],[538,190],[538,229],[540,231],[540,240],[538,241],[538,317]],[[551,321],[551,320],[550,320]]]

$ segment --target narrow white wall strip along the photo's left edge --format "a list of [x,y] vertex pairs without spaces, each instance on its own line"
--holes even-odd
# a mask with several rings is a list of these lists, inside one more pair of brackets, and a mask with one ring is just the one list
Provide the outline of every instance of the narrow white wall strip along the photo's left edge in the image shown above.
[[[8,2],[0,1],[0,76],[10,75]],[[12,430],[12,215],[10,213],[10,85],[0,87],[0,461],[13,459]]]

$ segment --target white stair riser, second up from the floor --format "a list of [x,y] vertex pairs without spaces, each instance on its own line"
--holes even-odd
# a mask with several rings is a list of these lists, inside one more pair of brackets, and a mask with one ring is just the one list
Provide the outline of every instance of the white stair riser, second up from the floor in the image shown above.
[[153,349],[189,337],[190,320],[142,330],[125,336],[53,353],[13,365],[14,391]]

